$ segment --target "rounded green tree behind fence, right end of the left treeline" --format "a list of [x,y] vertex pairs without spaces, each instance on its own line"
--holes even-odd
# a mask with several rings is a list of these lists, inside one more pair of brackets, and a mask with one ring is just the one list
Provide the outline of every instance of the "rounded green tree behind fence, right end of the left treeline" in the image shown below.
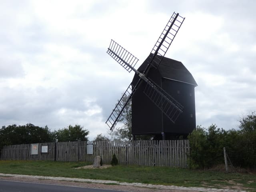
[[87,141],[89,131],[84,129],[81,125],[69,125],[67,128],[60,129],[54,132],[55,138],[58,139],[59,142],[67,142],[67,141]]

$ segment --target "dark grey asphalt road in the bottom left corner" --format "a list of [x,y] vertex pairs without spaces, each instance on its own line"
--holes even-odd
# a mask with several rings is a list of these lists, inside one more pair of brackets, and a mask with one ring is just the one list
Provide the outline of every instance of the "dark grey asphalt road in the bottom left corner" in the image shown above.
[[121,192],[121,191],[0,180],[0,192]]

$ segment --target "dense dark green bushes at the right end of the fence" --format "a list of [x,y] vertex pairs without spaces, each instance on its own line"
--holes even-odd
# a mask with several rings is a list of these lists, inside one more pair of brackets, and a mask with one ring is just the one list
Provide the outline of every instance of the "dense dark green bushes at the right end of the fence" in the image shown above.
[[211,168],[224,164],[223,147],[229,164],[241,168],[256,168],[256,113],[239,121],[239,130],[224,130],[216,125],[197,126],[189,136],[190,167]]

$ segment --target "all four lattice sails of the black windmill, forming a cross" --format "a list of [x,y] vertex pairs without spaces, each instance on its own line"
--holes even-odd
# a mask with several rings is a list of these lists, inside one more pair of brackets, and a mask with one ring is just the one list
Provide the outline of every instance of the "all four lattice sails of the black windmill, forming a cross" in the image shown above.
[[128,102],[130,102],[138,88],[141,88],[142,84],[144,84],[144,94],[150,99],[154,106],[158,108],[159,112],[164,114],[172,123],[176,122],[184,107],[180,102],[174,99],[174,97],[168,94],[159,84],[154,82],[148,76],[148,72],[150,69],[157,69],[161,65],[162,60],[165,59],[164,56],[184,19],[185,18],[180,16],[178,13],[174,12],[172,14],[156,44],[152,48],[150,56],[145,60],[143,70],[140,71],[134,68],[138,62],[138,58],[120,46],[117,42],[111,40],[107,53],[128,72],[134,71],[138,78],[135,82],[133,80],[133,82],[128,86],[119,102],[116,104],[116,107],[108,117],[106,124],[109,126],[110,130],[114,129],[122,115],[122,112],[124,111],[124,108]]

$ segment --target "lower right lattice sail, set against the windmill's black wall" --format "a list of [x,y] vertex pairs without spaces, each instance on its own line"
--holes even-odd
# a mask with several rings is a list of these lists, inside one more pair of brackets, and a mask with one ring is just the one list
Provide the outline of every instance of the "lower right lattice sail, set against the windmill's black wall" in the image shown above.
[[147,82],[144,89],[146,96],[175,123],[184,107],[151,79],[148,78],[145,81]]

